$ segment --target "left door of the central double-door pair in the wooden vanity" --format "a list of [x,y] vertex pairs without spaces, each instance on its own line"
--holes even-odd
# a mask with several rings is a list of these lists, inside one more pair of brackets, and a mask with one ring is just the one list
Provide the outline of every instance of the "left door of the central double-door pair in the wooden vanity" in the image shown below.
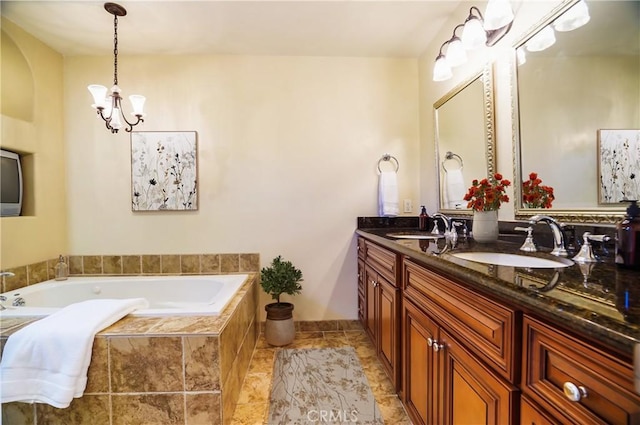
[[403,402],[415,424],[435,424],[435,361],[431,343],[438,326],[411,301],[402,304]]

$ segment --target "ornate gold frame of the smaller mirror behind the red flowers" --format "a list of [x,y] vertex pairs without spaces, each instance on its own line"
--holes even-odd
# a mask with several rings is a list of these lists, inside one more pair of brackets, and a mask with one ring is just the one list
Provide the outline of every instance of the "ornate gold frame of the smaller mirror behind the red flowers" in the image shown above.
[[[496,168],[496,151],[495,151],[495,125],[494,125],[494,101],[493,101],[493,69],[492,65],[486,64],[481,72],[477,74],[473,74],[470,78],[461,82],[453,89],[451,89],[447,94],[442,96],[433,104],[433,122],[434,122],[434,146],[435,146],[435,158],[436,158],[436,180],[438,185],[438,211],[454,216],[471,216],[473,211],[469,208],[465,209],[450,209],[443,207],[443,194],[442,194],[442,179],[441,179],[441,169],[442,163],[440,159],[440,147],[439,147],[439,127],[438,127],[438,108],[442,107],[448,101],[450,101],[454,96],[461,93],[465,88],[471,85],[476,80],[480,80],[482,83],[483,94],[483,115],[484,115],[484,150],[485,150],[485,162],[486,162],[486,170],[487,176],[492,175],[495,172]],[[464,120],[464,117],[460,118],[461,121]],[[484,176],[476,176],[476,178],[482,178]],[[469,182],[470,184],[470,182]]]

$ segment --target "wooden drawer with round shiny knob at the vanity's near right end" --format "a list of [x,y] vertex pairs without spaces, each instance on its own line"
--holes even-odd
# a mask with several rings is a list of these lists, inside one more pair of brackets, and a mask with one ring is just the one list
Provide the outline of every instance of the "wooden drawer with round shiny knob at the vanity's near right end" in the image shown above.
[[[523,325],[524,394],[563,423],[640,423],[631,364],[534,318]],[[564,393],[571,385],[577,401]]]

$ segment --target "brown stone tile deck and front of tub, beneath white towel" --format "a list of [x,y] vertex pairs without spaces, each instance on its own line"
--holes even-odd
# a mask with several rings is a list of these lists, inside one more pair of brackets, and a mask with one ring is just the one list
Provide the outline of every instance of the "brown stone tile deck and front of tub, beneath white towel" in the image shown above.
[[[127,316],[114,323],[96,336],[83,397],[67,409],[3,404],[2,423],[231,423],[259,333],[257,281],[251,273],[220,316]],[[31,320],[3,320],[2,348]]]

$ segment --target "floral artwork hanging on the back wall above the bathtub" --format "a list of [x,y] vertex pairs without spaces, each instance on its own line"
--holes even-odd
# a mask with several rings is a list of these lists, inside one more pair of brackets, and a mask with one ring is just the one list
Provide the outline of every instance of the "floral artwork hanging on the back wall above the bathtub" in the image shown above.
[[197,133],[131,133],[131,209],[198,209]]

